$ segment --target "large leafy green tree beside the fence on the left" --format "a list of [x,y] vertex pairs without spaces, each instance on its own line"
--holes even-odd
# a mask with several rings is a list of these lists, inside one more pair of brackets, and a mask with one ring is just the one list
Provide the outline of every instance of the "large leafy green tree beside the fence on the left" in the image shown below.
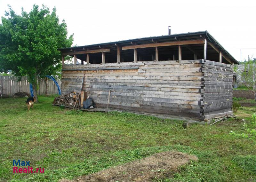
[[52,13],[42,5],[33,5],[27,13],[16,14],[10,5],[0,24],[0,71],[11,69],[21,78],[27,75],[37,99],[37,77],[52,75],[60,66],[58,48],[70,47],[73,35],[67,37],[67,25],[59,23],[54,7]]

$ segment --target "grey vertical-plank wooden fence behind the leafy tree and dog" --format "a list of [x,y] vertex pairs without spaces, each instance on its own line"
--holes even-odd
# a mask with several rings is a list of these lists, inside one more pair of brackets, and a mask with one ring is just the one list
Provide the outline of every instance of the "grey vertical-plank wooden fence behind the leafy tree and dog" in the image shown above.
[[[61,80],[56,81],[61,88]],[[39,95],[44,95],[46,89],[45,80],[38,78],[37,83],[39,86],[37,93]],[[28,92],[30,94],[29,84],[30,83],[28,82],[27,76],[23,76],[21,81],[18,81],[18,78],[15,76],[0,76],[2,95],[6,94],[13,96],[14,93],[19,91]],[[56,84],[50,79],[48,79],[48,94],[58,94],[58,88]]]

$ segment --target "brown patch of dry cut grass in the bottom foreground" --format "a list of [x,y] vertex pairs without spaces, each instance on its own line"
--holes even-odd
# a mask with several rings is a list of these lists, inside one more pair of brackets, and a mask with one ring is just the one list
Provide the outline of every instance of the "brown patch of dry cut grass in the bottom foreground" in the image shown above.
[[161,152],[134,162],[128,162],[107,170],[102,170],[75,180],[62,179],[59,182],[146,182],[154,178],[170,176],[177,168],[197,157],[181,152]]

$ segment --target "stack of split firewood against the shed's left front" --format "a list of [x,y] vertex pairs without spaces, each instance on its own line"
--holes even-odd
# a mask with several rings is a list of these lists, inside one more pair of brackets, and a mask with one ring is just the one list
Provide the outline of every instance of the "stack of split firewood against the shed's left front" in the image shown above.
[[76,107],[78,107],[78,102],[76,102],[78,95],[79,92],[73,91],[67,95],[57,97],[55,104],[74,107],[74,104],[76,103]]

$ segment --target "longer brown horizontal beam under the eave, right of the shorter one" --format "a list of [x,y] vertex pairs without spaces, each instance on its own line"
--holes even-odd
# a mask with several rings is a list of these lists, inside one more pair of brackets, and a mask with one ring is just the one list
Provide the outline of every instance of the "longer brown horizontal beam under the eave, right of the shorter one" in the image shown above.
[[189,44],[204,44],[204,40],[201,40],[201,39],[200,40],[184,40],[184,41],[129,45],[129,46],[122,47],[122,50],[140,49],[140,48],[148,48],[148,47],[172,46],[172,45],[189,45]]

